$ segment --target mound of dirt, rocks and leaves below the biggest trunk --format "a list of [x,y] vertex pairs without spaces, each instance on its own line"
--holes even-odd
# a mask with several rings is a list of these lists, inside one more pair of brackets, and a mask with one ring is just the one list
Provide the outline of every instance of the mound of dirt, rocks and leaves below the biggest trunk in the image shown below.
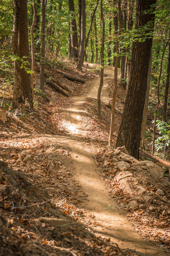
[[[169,252],[170,182],[164,177],[164,170],[151,161],[129,156],[124,147],[107,147],[96,159],[104,170],[103,176],[107,176],[113,198],[127,210],[133,224],[137,221],[136,230],[144,239],[155,241]],[[145,236],[146,227],[150,236]]]

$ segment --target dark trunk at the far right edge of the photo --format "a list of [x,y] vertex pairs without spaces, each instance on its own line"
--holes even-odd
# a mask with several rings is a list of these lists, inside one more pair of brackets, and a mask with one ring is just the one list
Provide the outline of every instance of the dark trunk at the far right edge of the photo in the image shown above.
[[167,77],[166,77],[166,83],[165,83],[164,106],[163,106],[163,120],[165,122],[166,122],[166,113],[167,113],[167,98],[168,98],[169,85],[170,85],[170,43],[168,44]]

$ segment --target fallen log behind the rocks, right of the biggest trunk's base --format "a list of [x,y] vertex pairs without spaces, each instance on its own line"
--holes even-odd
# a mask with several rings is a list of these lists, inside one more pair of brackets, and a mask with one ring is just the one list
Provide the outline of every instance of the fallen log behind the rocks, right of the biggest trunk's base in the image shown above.
[[140,150],[139,151],[139,159],[142,160],[142,158],[144,158],[144,160],[152,161],[153,163],[156,163],[158,166],[166,168],[167,171],[169,171],[169,169],[170,169],[170,163],[168,163],[167,161],[153,157],[151,154],[148,154],[148,153],[144,152],[143,150]]

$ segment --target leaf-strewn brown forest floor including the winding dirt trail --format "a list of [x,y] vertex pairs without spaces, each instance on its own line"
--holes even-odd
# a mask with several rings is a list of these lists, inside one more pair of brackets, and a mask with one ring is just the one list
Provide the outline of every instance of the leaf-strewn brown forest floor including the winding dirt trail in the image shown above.
[[[85,79],[83,85],[64,79],[57,67],[47,69],[73,95],[61,96],[51,87],[44,95],[36,87],[34,112],[22,105],[15,113],[7,111],[7,122],[0,120],[5,161],[0,173],[0,255],[170,254],[170,183],[159,177],[160,170],[156,180],[147,168],[132,177],[131,163],[123,172],[113,168],[113,154],[116,161],[120,158],[107,148],[114,70],[105,67],[99,120],[98,69],[87,63],[82,73],[73,66],[62,69]],[[2,99],[10,102],[12,88],[5,91]],[[118,86],[113,140],[124,102],[125,90]],[[146,177],[150,185],[144,183]],[[131,191],[126,190],[129,182]],[[134,198],[139,185],[145,191]],[[156,194],[158,189],[164,195]]]

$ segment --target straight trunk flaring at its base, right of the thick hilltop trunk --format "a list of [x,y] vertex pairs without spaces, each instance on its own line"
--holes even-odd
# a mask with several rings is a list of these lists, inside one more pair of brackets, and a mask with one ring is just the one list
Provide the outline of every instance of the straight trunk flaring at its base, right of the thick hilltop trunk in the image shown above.
[[81,37],[79,46],[79,56],[77,61],[77,68],[82,70],[84,61],[84,48],[85,48],[85,0],[82,0],[82,12],[81,12]]

